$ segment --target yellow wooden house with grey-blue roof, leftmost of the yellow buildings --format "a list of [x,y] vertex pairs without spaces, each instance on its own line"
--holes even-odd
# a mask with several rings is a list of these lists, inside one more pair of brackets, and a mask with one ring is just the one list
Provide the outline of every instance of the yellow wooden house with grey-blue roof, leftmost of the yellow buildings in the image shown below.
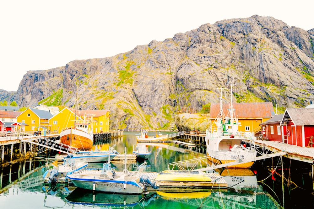
[[48,120],[52,117],[49,111],[27,108],[17,116],[18,123],[25,123],[24,131],[51,130]]

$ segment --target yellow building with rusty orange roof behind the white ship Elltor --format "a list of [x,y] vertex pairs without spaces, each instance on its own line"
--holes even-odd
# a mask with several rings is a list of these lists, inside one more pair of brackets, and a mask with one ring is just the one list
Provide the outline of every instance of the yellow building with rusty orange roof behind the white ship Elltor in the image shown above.
[[[223,112],[228,114],[230,104],[224,103]],[[274,115],[274,108],[272,102],[247,102],[247,103],[233,103],[234,118],[238,118],[238,129],[240,132],[261,132],[260,123],[270,119]],[[210,106],[210,120],[214,123],[215,118],[219,115],[219,104],[211,104]],[[225,115],[227,116],[227,115]],[[214,125],[213,125],[214,128]]]

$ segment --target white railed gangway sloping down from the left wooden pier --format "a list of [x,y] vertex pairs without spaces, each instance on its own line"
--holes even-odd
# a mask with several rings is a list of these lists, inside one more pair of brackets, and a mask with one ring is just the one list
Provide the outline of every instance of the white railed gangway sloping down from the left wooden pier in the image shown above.
[[41,147],[53,149],[62,153],[67,153],[67,154],[76,153],[78,151],[76,147],[72,147],[66,144],[62,144],[62,143],[57,143],[55,140],[52,140],[49,138],[45,138],[41,136],[34,136],[28,133],[23,133],[23,134],[24,136],[27,135],[28,138],[19,139],[22,142],[36,144]]

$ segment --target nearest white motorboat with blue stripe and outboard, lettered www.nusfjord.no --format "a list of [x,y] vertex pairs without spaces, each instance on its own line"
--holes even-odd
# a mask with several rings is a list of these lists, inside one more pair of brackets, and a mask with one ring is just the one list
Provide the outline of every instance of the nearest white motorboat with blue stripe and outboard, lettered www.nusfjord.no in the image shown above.
[[84,170],[82,172],[67,175],[67,177],[75,186],[93,191],[142,194],[147,192],[147,185],[157,189],[158,186],[156,186],[154,182],[151,182],[148,176],[137,176],[135,175],[137,171],[130,173],[127,170],[126,153],[125,148],[125,168],[122,175],[116,175],[115,170],[111,168],[111,164],[108,162],[103,164],[103,169],[101,171]]

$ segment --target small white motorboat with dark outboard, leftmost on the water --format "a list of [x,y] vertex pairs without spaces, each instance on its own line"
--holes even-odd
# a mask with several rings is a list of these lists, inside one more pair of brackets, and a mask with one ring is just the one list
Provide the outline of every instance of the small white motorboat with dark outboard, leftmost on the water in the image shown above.
[[42,175],[45,183],[67,183],[68,178],[66,175],[72,174],[73,171],[84,170],[88,165],[84,159],[63,159],[62,165],[56,165],[57,159],[55,159],[52,164],[46,162],[46,167],[48,168],[48,166],[53,164],[53,168],[47,169],[44,175]]

